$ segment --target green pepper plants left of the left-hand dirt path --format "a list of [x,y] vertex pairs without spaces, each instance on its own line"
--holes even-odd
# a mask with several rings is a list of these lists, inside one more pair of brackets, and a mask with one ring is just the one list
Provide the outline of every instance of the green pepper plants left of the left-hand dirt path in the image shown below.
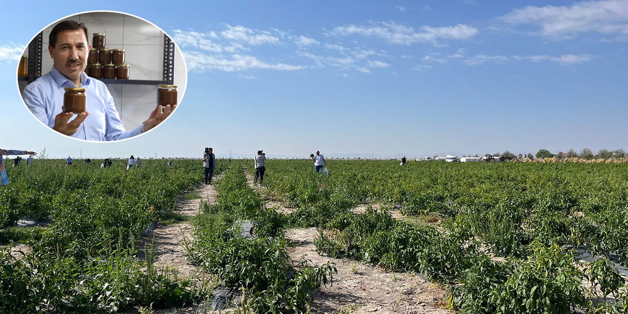
[[[218,172],[228,164],[219,163]],[[13,256],[0,249],[0,312],[116,312],[203,297],[188,279],[156,269],[150,247],[137,247],[143,230],[172,220],[178,196],[202,181],[200,161],[168,168],[145,160],[130,171],[122,163],[102,170],[62,165],[36,160],[8,168],[11,184],[0,187],[0,243],[21,241],[28,249]],[[19,217],[51,224],[13,227]]]

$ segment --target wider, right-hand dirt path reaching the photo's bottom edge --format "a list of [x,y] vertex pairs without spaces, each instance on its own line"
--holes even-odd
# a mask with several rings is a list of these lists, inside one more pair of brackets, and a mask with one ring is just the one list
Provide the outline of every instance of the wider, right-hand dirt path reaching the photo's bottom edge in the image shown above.
[[[253,176],[245,171],[247,184],[264,199],[266,187],[254,186]],[[277,207],[278,210],[289,212],[295,208],[287,208],[281,202],[266,201],[266,207]],[[379,208],[379,206],[374,205]],[[368,205],[358,205],[354,212],[361,214]],[[398,210],[391,211],[393,217],[401,218]],[[313,295],[313,313],[332,313],[345,309],[345,313],[453,313],[441,308],[445,292],[419,276],[409,273],[388,273],[373,266],[368,266],[349,259],[334,259],[320,256],[313,244],[318,237],[315,228],[291,229],[286,238],[294,247],[288,252],[293,261],[302,258],[312,261],[314,265],[329,262],[335,263],[338,270],[333,276],[333,286],[323,287]]]

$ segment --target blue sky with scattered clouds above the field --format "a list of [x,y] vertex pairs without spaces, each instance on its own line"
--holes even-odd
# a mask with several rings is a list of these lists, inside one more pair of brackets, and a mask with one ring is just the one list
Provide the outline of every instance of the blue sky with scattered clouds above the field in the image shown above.
[[[84,3],[3,1],[1,148],[96,158],[628,148],[628,0]],[[147,19],[183,51],[187,91],[158,129],[84,143],[24,107],[24,45],[91,10]]]

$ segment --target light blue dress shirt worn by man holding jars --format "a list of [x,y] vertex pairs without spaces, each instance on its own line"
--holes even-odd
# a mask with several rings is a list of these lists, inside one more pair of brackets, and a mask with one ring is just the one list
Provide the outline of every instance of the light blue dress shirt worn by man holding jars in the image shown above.
[[[53,128],[55,116],[62,112],[65,87],[75,86],[71,80],[52,67],[50,72],[26,85],[22,97],[35,117]],[[82,73],[78,87],[87,89],[85,110],[89,112],[89,115],[78,127],[78,131],[72,134],[72,138],[87,141],[116,141],[142,133],[141,124],[131,131],[124,129],[114,99],[103,82]],[[75,114],[73,119],[77,116]]]

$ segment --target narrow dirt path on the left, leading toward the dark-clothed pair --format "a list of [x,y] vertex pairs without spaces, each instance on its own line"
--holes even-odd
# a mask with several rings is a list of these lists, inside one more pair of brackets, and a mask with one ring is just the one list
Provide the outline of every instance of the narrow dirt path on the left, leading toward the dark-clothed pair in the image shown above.
[[212,185],[201,185],[195,189],[195,192],[200,198],[187,200],[181,197],[175,208],[176,214],[181,214],[188,220],[174,225],[158,224],[153,231],[143,236],[143,242],[147,246],[151,244],[154,237],[154,256],[158,268],[176,269],[178,276],[184,277],[198,274],[197,267],[189,264],[185,259],[185,244],[192,239],[190,219],[198,215],[201,200],[213,204],[217,197],[217,192]]

